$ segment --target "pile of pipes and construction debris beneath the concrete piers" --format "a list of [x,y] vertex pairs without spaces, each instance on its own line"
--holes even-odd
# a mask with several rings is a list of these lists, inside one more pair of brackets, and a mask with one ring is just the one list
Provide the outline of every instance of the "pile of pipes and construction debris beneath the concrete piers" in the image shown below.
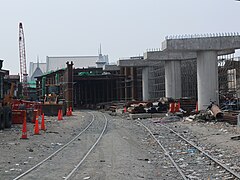
[[[160,98],[158,101],[129,101],[100,103],[97,109],[109,111],[112,115],[128,113],[130,119],[148,118],[154,114],[161,116],[179,116],[187,121],[220,121],[229,124],[237,124],[237,116],[240,111],[221,110],[211,103],[206,110],[199,111],[197,101],[192,98]],[[135,116],[133,116],[135,115]],[[149,116],[150,115],[150,116]],[[154,116],[156,117],[156,116]]]

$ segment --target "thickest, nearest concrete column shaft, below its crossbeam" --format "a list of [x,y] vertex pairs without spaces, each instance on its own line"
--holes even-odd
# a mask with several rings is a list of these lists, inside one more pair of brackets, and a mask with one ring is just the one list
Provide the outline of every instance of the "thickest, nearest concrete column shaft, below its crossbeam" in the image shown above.
[[205,110],[211,101],[219,103],[216,51],[197,52],[198,109]]

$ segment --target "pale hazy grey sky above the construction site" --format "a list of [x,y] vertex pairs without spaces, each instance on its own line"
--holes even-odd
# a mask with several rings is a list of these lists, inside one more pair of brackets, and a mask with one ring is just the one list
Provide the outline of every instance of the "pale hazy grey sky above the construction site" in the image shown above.
[[235,0],[0,0],[0,59],[20,72],[18,24],[29,62],[46,56],[97,55],[110,62],[160,48],[165,36],[240,32]]

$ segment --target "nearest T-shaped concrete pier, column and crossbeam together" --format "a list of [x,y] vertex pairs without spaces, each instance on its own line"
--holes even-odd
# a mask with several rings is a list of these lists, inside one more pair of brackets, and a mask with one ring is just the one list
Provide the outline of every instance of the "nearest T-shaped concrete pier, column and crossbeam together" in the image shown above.
[[240,36],[167,39],[162,49],[196,53],[198,107],[204,110],[211,101],[219,103],[217,56],[240,49]]

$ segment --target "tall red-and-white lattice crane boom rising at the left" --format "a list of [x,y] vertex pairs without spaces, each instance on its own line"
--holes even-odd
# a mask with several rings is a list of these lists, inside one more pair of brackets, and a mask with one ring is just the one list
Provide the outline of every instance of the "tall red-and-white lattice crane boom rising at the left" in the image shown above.
[[20,56],[20,78],[22,82],[22,95],[24,98],[28,97],[28,84],[27,84],[27,67],[26,67],[26,51],[23,25],[19,23],[19,56]]

